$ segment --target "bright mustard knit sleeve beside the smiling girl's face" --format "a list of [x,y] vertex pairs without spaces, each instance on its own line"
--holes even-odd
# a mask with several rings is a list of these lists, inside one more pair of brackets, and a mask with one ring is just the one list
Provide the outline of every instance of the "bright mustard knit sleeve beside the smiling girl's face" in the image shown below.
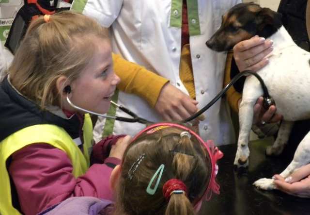
[[151,107],[155,106],[160,90],[169,82],[154,72],[113,54],[114,71],[121,82],[117,88],[129,94],[136,94],[145,99]]

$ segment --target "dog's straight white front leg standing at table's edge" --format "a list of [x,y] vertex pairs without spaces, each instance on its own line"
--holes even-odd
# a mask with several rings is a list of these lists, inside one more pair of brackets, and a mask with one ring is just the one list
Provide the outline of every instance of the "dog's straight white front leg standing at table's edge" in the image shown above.
[[233,164],[237,167],[248,166],[248,156],[250,151],[248,149],[248,138],[253,122],[253,106],[256,99],[242,99],[239,107],[239,138],[236,157]]

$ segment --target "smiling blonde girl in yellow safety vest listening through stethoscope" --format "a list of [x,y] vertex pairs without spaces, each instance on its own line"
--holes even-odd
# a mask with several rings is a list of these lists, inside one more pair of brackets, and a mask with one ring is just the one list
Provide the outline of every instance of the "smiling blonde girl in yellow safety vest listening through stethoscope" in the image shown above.
[[67,99],[104,114],[119,81],[93,19],[62,12],[31,23],[0,83],[1,215],[35,215],[70,197],[112,199],[110,174],[130,137],[93,146],[90,115]]

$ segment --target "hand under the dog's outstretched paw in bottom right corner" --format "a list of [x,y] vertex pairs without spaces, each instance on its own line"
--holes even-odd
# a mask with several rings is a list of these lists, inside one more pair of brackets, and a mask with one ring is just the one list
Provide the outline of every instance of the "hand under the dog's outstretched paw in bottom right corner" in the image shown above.
[[287,194],[310,198],[310,164],[304,165],[284,179],[280,175],[274,175],[276,188]]

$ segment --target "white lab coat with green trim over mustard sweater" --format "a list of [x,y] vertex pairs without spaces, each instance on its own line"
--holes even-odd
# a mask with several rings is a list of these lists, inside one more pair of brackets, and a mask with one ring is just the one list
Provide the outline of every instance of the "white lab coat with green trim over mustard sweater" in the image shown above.
[[[221,16],[239,2],[241,0],[198,0],[201,35],[190,36],[190,51],[200,109],[223,88],[226,60],[226,53],[208,49],[205,42],[219,28]],[[87,0],[81,10],[96,18],[102,26],[110,27],[115,53],[169,79],[187,93],[179,76],[181,28],[170,27],[171,0]],[[148,120],[161,120],[155,110],[136,95],[120,92],[118,103]],[[120,110],[116,115],[127,116]],[[199,125],[204,140],[212,139],[216,145],[235,142],[225,99],[217,101],[204,115],[206,119]],[[99,117],[94,129],[96,141],[101,138],[104,125],[105,119]],[[144,127],[139,123],[115,121],[113,133],[135,135]]]

